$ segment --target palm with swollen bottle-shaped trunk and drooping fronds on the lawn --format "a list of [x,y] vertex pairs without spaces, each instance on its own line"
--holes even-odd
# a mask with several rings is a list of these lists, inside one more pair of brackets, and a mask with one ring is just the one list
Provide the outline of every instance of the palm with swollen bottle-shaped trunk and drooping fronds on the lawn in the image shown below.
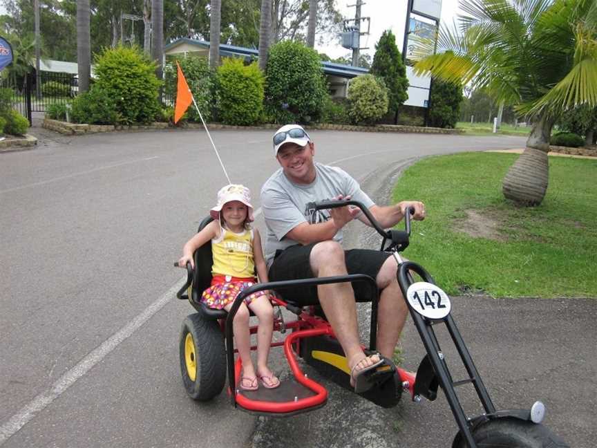
[[486,88],[533,123],[502,192],[539,205],[553,123],[575,105],[597,104],[597,2],[462,0],[460,8],[459,30],[439,31],[439,53],[433,41],[419,40],[415,73]]

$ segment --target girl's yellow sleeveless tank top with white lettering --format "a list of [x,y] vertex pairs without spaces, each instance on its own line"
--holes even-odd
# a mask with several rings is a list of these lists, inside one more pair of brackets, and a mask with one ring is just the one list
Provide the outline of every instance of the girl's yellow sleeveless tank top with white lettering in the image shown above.
[[237,234],[225,227],[220,229],[219,238],[211,240],[211,252],[214,254],[211,274],[255,277],[253,230],[247,229]]

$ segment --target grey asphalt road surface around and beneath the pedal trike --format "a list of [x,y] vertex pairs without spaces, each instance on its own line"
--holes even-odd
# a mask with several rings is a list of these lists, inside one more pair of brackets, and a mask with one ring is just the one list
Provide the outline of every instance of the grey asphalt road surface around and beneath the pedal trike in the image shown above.
[[[189,400],[178,332],[193,309],[174,298],[182,273],[172,262],[226,183],[205,132],[40,136],[32,151],[0,154],[0,445],[260,447],[293,446],[292,438],[301,447],[449,445],[455,425],[441,397],[385,411],[330,385],[326,407],[285,420],[234,411],[224,393]],[[271,131],[212,136],[258,211],[258,189],[276,169]],[[342,167],[381,199],[397,170],[421,156],[524,146],[523,138],[491,136],[312,137],[316,160]],[[256,225],[263,229],[260,214]],[[497,384],[496,402],[522,407],[542,398],[551,427],[573,446],[592,446],[594,301],[462,304],[455,316],[486,382]],[[414,333],[408,328],[403,342],[412,368],[421,353]],[[345,414],[370,418],[354,423],[339,418]],[[332,428],[346,438],[316,437]]]

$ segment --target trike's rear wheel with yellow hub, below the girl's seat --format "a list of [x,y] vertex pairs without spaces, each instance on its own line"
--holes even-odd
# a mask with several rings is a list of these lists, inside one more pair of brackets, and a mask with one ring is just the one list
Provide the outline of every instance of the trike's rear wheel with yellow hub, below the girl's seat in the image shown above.
[[214,398],[226,382],[224,335],[218,322],[198,312],[182,322],[178,343],[180,373],[184,389],[193,400]]

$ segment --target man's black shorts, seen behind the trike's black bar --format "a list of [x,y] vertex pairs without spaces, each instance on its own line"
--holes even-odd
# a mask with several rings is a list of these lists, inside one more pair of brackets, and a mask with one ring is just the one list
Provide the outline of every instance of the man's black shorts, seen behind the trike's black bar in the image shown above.
[[[281,252],[276,253],[274,262],[269,268],[269,281],[296,280],[313,278],[311,263],[309,261],[313,246],[316,243],[307,245],[293,245]],[[369,249],[345,250],[344,256],[346,268],[349,274],[366,274],[376,279],[381,265],[391,256],[389,252]],[[369,283],[355,281],[352,283],[354,297],[359,302],[372,300],[372,288]],[[317,287],[303,286],[283,288],[279,290],[280,295],[286,301],[299,305],[318,304]]]

